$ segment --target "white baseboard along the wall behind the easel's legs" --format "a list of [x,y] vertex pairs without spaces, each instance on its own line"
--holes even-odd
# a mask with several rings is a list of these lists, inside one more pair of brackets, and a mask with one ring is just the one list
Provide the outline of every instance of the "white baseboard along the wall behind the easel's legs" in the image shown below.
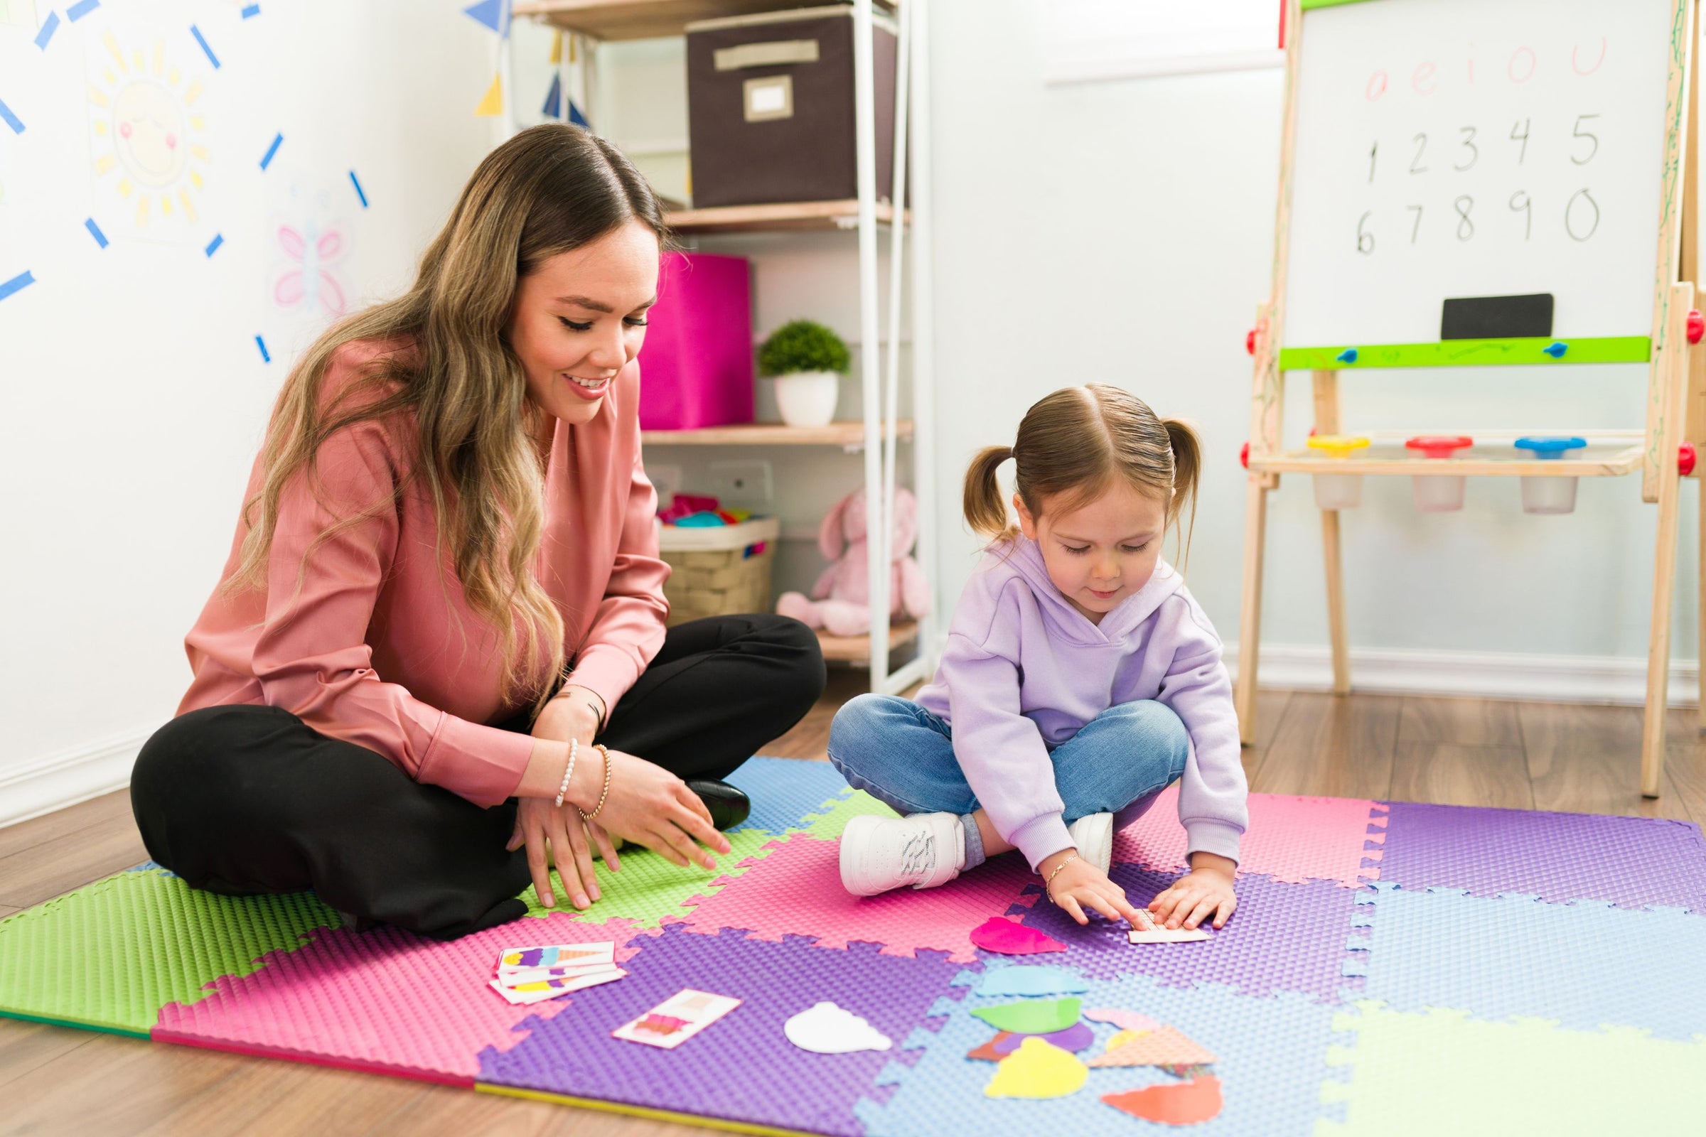
[[[1239,648],[1227,644],[1227,668]],[[1259,685],[1329,690],[1326,644],[1262,644]],[[1537,699],[1544,702],[1646,702],[1646,660],[1631,656],[1527,655],[1515,651],[1351,649],[1351,690],[1411,695]],[[1670,706],[1699,702],[1699,665],[1670,661]]]

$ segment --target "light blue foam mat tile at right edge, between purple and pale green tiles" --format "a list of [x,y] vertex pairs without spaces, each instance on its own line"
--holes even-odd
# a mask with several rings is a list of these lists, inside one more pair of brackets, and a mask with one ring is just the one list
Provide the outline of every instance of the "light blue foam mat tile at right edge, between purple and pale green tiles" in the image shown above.
[[1397,1011],[1534,1016],[1570,1030],[1706,1033],[1706,917],[1607,902],[1382,892],[1363,996]]

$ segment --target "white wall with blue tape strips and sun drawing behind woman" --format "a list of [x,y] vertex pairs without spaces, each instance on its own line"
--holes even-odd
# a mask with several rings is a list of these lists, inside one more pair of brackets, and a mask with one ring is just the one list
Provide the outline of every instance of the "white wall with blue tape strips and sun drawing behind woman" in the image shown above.
[[[266,411],[328,320],[276,302],[278,227],[341,234],[324,268],[348,303],[394,293],[491,143],[473,107],[493,36],[461,0],[292,0],[252,19],[237,0],[107,0],[75,24],[53,5],[61,24],[38,49],[48,7],[0,5],[0,99],[26,126],[0,124],[0,281],[36,278],[0,300],[0,822],[123,782],[189,682],[183,636],[217,583]],[[140,189],[116,189],[125,155],[92,126],[106,116],[89,90],[130,82],[165,92],[179,141],[206,150],[169,179],[172,216],[154,203],[147,227]],[[208,257],[213,234],[225,242]]]

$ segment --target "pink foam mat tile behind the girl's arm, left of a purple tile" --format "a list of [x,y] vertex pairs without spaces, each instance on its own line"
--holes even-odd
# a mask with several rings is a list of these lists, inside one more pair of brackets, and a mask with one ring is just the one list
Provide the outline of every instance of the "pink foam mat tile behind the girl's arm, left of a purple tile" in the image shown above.
[[[1380,878],[1384,851],[1365,851],[1370,825],[1385,825],[1378,805],[1363,798],[1293,798],[1250,794],[1250,827],[1244,834],[1240,873],[1271,876],[1288,885],[1331,880],[1344,888]],[[1380,837],[1385,834],[1382,832]],[[1184,827],[1179,788],[1162,791],[1155,805],[1114,834],[1114,861],[1155,869],[1184,869]]]

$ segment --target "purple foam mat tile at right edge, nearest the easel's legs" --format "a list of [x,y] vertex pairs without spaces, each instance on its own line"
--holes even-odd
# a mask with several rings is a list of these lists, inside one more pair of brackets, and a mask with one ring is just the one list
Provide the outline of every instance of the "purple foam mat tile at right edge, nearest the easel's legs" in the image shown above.
[[1609,900],[1706,915],[1706,840],[1668,818],[1392,801],[1380,880],[1404,888]]

